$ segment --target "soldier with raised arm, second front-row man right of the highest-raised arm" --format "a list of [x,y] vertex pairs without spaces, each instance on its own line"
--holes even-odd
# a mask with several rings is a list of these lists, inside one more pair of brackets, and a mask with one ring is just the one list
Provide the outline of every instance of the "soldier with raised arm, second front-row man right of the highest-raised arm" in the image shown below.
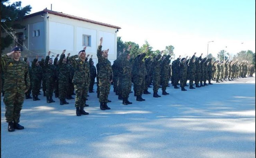
[[[148,48],[146,49],[148,51]],[[134,95],[136,96],[136,101],[145,101],[142,98],[142,93],[144,92],[145,88],[145,63],[142,61],[146,53],[142,53],[137,55],[133,69],[132,69],[132,76],[133,76],[133,83],[134,83]]]

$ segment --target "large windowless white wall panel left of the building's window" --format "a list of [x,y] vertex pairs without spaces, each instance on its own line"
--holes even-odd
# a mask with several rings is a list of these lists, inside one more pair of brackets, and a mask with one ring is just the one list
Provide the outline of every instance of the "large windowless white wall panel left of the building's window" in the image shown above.
[[74,51],[74,26],[50,22],[49,49]]

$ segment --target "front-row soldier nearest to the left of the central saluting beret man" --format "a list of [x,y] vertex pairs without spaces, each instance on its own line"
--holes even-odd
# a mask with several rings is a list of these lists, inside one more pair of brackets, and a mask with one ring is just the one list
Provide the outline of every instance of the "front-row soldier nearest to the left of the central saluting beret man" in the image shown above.
[[66,97],[68,95],[68,85],[71,80],[70,65],[67,63],[67,58],[65,57],[66,49],[62,51],[60,55],[59,65],[58,65],[58,81],[59,81],[59,99],[60,105],[68,104]]

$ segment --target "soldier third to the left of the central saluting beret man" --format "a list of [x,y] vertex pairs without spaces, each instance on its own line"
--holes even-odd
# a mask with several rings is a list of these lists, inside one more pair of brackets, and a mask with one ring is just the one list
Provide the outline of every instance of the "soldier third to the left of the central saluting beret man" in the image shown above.
[[41,80],[42,80],[43,70],[39,66],[38,55],[32,62],[32,70],[30,73],[30,82],[32,87],[33,101],[40,101],[38,98],[39,91],[41,89]]

